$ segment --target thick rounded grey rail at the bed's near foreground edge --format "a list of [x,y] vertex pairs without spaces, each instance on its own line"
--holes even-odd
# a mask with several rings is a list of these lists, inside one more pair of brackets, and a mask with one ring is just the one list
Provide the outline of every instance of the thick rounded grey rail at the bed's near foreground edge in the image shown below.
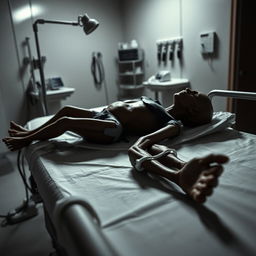
[[84,199],[71,197],[57,203],[54,212],[56,230],[68,255],[117,255],[104,236],[96,215]]

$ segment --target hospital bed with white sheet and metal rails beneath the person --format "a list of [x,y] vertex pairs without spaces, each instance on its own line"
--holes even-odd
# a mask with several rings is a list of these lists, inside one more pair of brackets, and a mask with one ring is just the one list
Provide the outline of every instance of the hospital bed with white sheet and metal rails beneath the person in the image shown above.
[[[230,91],[212,96],[240,97]],[[242,94],[256,98],[255,94]],[[48,117],[28,123],[35,128]],[[28,146],[24,154],[61,255],[256,255],[256,135],[232,128],[234,115],[163,143],[184,160],[209,153],[230,157],[214,194],[203,204],[154,175],[134,171],[129,142],[95,145],[72,133]]]

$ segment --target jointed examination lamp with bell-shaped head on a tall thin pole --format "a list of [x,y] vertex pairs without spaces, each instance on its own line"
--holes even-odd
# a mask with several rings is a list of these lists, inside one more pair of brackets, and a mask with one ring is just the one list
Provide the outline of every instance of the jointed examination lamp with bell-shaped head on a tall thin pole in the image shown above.
[[35,67],[39,69],[40,74],[40,80],[41,80],[41,87],[42,87],[42,101],[43,101],[43,112],[44,115],[48,115],[48,107],[47,107],[47,99],[46,99],[46,85],[45,85],[45,77],[44,77],[44,70],[43,70],[43,63],[42,63],[42,57],[40,52],[40,45],[39,45],[39,39],[38,39],[38,24],[60,24],[60,25],[71,25],[71,26],[80,26],[83,27],[83,30],[86,35],[89,35],[92,33],[98,26],[99,22],[95,19],[91,19],[87,14],[84,14],[83,16],[78,16],[77,21],[60,21],[60,20],[44,20],[44,19],[38,19],[33,24],[33,31],[35,34],[35,41],[36,41],[36,51],[37,51],[37,57],[36,65]]

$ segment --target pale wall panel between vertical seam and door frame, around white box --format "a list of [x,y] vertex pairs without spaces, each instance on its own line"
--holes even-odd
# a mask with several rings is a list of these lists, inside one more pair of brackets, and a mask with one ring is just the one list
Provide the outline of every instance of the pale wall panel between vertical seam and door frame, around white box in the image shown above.
[[[231,0],[182,0],[182,30],[184,37],[184,77],[193,89],[208,93],[228,88],[229,33]],[[199,35],[215,31],[216,57],[203,58]],[[226,109],[226,100],[215,99],[216,111]]]

